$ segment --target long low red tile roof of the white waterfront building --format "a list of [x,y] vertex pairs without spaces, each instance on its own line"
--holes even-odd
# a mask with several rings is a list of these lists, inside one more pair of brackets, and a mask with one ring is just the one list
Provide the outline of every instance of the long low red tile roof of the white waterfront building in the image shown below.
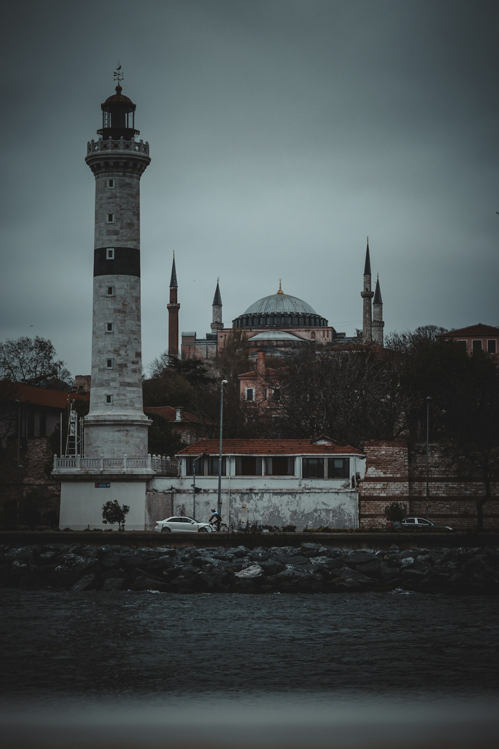
[[[218,455],[218,440],[199,440],[177,455]],[[222,440],[223,455],[362,455],[351,445],[317,445],[311,440]]]

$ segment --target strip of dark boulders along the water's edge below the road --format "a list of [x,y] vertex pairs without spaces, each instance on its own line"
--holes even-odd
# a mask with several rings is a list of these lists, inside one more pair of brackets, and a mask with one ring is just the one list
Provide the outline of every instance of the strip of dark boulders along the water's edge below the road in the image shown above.
[[0,547],[0,586],[159,592],[334,593],[402,588],[498,594],[497,548]]

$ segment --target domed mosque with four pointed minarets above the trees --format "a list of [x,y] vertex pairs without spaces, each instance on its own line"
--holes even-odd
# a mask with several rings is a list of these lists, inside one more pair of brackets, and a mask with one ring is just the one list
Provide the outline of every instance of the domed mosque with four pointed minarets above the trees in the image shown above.
[[278,291],[257,300],[245,312],[233,320],[232,327],[222,323],[222,302],[217,281],[212,303],[211,330],[203,338],[195,331],[182,333],[179,351],[177,271],[173,261],[170,282],[170,303],[168,304],[168,354],[183,359],[198,359],[213,362],[224,351],[225,345],[234,335],[240,333],[247,339],[250,357],[257,357],[258,351],[272,356],[281,356],[307,342],[383,345],[383,303],[376,280],[375,291],[371,290],[371,265],[369,237],[367,238],[366,260],[364,264],[364,284],[362,297],[362,331],[358,336],[348,337],[339,333],[328,321],[319,315],[310,304],[298,297],[285,294],[281,282]]

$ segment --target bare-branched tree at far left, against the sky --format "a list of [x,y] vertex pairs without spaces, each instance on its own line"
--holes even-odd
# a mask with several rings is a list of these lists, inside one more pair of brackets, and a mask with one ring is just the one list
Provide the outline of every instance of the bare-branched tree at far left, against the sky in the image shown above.
[[71,385],[73,377],[62,360],[56,360],[52,342],[22,336],[0,343],[0,379],[28,385]]

